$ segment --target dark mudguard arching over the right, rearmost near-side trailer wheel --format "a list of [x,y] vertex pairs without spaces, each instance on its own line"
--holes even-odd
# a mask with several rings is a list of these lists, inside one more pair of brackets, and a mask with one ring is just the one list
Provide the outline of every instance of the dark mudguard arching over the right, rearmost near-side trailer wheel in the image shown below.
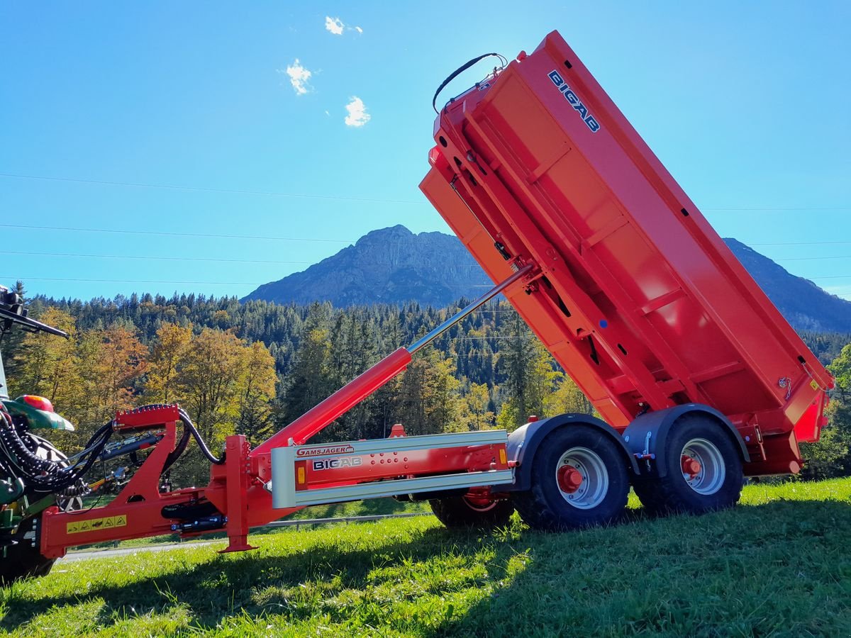
[[[671,428],[677,423],[677,419],[692,413],[703,413],[717,421],[719,426],[726,429],[728,434],[738,443],[742,461],[744,463],[750,462],[751,455],[745,447],[745,441],[742,441],[739,431],[727,417],[712,407],[700,403],[685,403],[681,406],[668,407],[665,410],[643,414],[624,430],[623,441],[630,450],[632,458],[644,456],[648,461],[652,461],[652,463],[640,464],[643,475],[667,476],[668,468],[661,461],[660,452],[665,449],[665,441]],[[509,444],[511,444],[511,439],[509,439]]]

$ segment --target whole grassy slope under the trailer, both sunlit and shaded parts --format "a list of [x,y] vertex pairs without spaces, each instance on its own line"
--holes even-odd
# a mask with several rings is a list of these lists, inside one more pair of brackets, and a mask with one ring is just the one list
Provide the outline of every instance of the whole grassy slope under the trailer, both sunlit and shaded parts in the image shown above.
[[851,634],[851,479],[618,527],[449,532],[428,516],[59,563],[0,590],[12,635]]

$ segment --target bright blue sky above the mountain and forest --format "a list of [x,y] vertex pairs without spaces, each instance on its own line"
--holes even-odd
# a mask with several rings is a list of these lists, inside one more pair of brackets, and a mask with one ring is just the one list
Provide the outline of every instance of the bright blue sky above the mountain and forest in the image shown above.
[[370,230],[448,231],[417,189],[434,89],[558,29],[722,236],[851,299],[849,25],[848,2],[3,3],[0,282],[241,296]]

